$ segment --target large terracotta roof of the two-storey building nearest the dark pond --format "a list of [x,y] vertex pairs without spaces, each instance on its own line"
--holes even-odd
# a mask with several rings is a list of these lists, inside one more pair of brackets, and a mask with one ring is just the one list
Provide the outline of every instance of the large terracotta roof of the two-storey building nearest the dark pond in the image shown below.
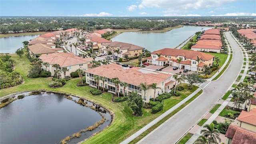
[[106,76],[110,79],[118,77],[121,82],[127,82],[128,84],[133,84],[135,86],[140,85],[141,82],[146,83],[147,85],[152,83],[159,84],[160,82],[163,82],[172,76],[170,74],[164,74],[160,72],[158,74],[144,74],[139,72],[135,67],[124,69],[115,63],[98,66],[96,68],[86,70],[86,72],[90,74],[96,74],[98,76]]

